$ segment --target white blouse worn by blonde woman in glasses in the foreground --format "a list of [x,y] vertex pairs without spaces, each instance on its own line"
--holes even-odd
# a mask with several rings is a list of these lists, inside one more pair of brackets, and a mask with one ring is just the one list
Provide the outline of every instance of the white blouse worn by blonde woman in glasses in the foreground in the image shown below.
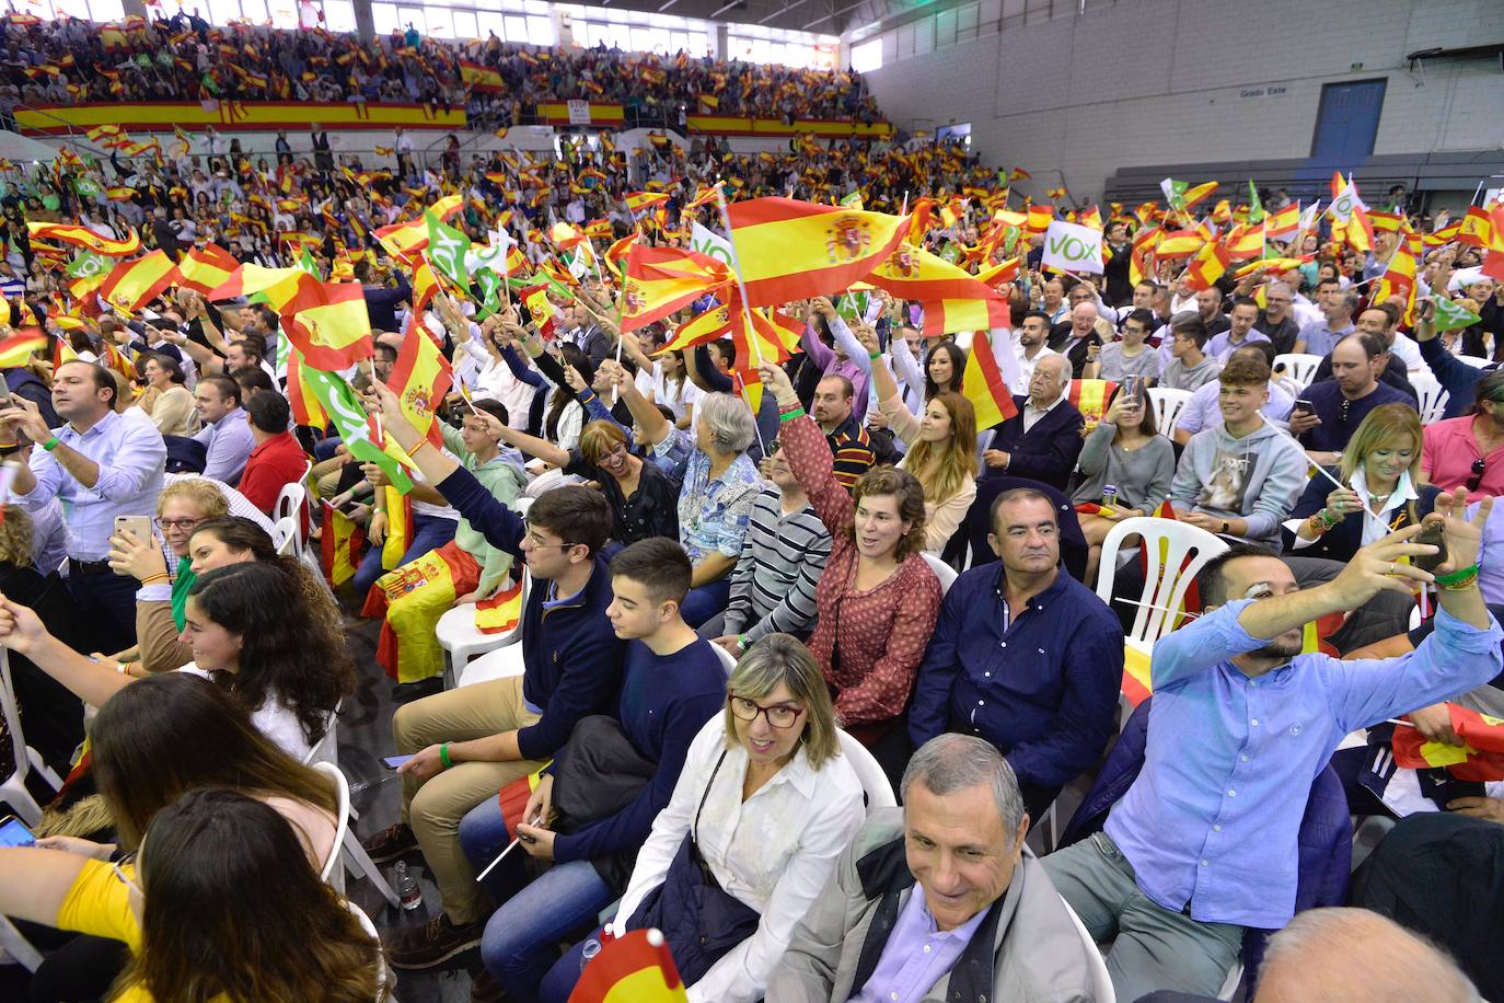
[[[716,714],[695,735],[674,797],[653,821],[653,833],[638,854],[632,883],[617,911],[626,920],[647,893],[663,883],[698,812],[695,835],[705,863],[720,887],[761,913],[763,922],[755,934],[689,986],[690,1003],[763,998],[794,926],[824,889],[836,859],[866,818],[862,782],[845,756],[829,759],[815,771],[799,752],[743,801],[747,753],[741,743],[726,747],[725,728],[725,714]],[[722,752],[725,761],[717,771]]]

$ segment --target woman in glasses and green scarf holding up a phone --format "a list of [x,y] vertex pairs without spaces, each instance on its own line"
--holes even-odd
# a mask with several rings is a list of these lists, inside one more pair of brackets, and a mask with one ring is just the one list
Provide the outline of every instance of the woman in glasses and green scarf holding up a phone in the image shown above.
[[[206,480],[173,481],[156,498],[156,528],[161,540],[138,540],[129,529],[110,537],[110,567],[141,583],[135,592],[135,647],[104,660],[120,663],[126,675],[171,672],[193,660],[193,651],[180,641],[183,606],[197,576],[183,561],[194,528],[229,514],[229,502],[218,487]],[[165,543],[179,559],[177,576],[167,574]]]

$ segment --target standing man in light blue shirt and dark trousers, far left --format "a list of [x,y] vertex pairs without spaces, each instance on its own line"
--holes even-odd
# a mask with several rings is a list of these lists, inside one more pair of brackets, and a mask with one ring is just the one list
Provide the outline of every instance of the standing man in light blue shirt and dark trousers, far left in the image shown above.
[[41,448],[11,487],[21,507],[41,510],[54,498],[68,522],[68,591],[78,605],[89,651],[122,651],[135,641],[135,579],[110,570],[116,516],[155,516],[167,445],[150,421],[114,412],[114,380],[93,362],[65,362],[53,376],[53,408],[66,423],[56,432],[36,405],[12,397],[0,424]]

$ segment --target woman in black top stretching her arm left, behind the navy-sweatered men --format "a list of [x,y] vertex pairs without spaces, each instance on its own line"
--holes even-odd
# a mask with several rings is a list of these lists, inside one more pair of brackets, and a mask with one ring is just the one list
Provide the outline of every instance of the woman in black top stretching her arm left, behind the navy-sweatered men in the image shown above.
[[594,481],[611,502],[612,538],[632,544],[651,537],[678,538],[678,484],[657,463],[632,453],[627,433],[611,421],[591,421],[579,445],[564,450],[547,439],[490,421],[493,435],[544,463]]

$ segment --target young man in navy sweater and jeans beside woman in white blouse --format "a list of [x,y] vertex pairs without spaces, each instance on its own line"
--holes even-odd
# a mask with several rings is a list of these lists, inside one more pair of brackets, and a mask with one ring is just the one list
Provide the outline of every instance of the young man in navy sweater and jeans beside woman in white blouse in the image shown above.
[[[502,818],[496,798],[487,798],[460,824],[460,842],[475,868],[508,844],[508,821],[528,854],[553,862],[486,923],[481,959],[490,979],[477,980],[474,998],[492,998],[496,988],[505,989],[504,998],[535,998],[556,959],[555,946],[626,892],[636,853],[674,794],[690,743],[725,705],[720,659],[680,615],[692,573],[684,549],[663,537],[633,543],[611,561],[615,598],[606,617],[627,642],[627,668],[615,717],[582,720],[572,749],[585,741],[597,762],[609,764],[600,773],[614,782],[603,786],[614,789],[623,776],[647,777],[636,795],[590,823],[555,821],[555,777],[546,771],[522,820]],[[570,776],[578,779],[581,770]],[[576,789],[572,803],[581,798]],[[520,860],[514,854],[508,863]]]

